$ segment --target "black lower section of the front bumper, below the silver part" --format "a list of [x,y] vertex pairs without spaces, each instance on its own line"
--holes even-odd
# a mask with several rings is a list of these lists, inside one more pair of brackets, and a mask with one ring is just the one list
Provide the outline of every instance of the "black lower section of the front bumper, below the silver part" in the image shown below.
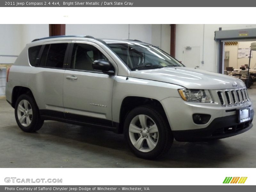
[[252,128],[254,111],[250,111],[251,120],[237,123],[237,116],[225,116],[215,118],[212,123],[203,129],[172,131],[177,141],[205,141],[231,137]]

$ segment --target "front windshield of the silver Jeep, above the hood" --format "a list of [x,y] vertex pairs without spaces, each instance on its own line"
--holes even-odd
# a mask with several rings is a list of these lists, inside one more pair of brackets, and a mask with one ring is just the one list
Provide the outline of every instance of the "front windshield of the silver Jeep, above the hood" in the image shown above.
[[131,70],[145,70],[163,67],[184,67],[170,55],[153,45],[121,43],[108,46]]

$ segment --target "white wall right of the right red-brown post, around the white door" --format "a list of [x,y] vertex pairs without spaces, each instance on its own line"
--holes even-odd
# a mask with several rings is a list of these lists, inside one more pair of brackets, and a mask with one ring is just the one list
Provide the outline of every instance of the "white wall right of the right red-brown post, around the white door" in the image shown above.
[[[182,61],[183,47],[200,46],[200,68],[208,71],[217,71],[218,47],[214,41],[214,31],[231,29],[256,28],[255,24],[177,24],[175,57]],[[204,41],[203,41],[204,38]]]

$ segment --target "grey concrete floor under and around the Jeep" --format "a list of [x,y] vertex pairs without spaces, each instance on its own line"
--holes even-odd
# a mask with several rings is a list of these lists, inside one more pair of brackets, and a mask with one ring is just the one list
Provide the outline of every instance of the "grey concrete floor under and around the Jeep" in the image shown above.
[[[249,95],[256,109],[256,88]],[[45,121],[36,133],[22,132],[5,99],[0,115],[1,168],[256,167],[256,118],[243,134],[212,142],[174,141],[167,155],[151,161],[134,156],[122,134],[54,121]]]

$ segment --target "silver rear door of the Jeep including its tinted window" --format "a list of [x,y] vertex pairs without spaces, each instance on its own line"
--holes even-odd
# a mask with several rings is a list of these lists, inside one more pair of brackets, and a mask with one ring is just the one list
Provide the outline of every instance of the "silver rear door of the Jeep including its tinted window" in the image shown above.
[[[71,41],[46,42],[39,53],[34,77],[41,115],[64,118],[63,74]],[[32,81],[32,80],[31,80]]]

